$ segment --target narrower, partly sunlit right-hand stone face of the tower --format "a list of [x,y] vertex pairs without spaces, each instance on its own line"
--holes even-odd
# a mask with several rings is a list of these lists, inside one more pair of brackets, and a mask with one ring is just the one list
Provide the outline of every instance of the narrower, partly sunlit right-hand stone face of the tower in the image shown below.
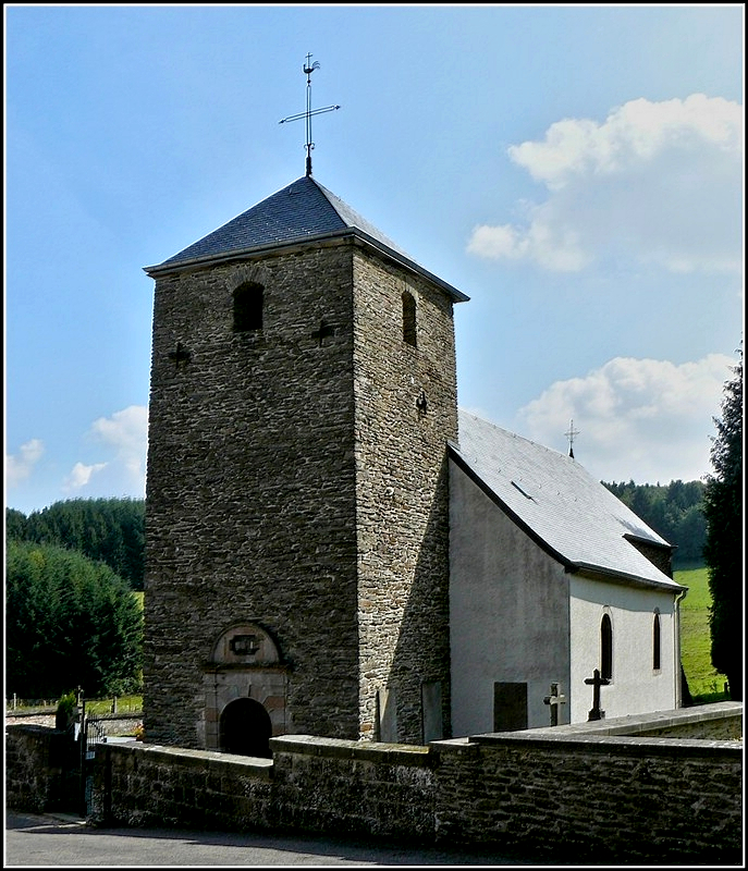
[[[445,457],[447,439],[457,437],[452,302],[421,278],[361,252],[354,274],[361,736],[375,734],[377,692],[384,691],[392,725],[375,737],[421,744],[425,684],[441,696],[443,731],[430,737],[451,734]],[[415,299],[415,346],[404,341],[404,294]]]

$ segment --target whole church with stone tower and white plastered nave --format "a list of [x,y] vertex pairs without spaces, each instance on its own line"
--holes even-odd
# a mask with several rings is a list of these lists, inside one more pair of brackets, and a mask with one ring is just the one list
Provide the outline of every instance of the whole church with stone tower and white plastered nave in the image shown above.
[[671,547],[573,456],[458,409],[468,297],[310,161],[146,272],[148,743],[679,707]]

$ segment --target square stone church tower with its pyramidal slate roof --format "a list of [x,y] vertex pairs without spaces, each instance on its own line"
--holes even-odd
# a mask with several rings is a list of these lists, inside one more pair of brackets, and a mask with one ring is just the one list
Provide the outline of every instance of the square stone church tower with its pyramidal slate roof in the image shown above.
[[467,297],[310,174],[146,272],[146,740],[449,736]]

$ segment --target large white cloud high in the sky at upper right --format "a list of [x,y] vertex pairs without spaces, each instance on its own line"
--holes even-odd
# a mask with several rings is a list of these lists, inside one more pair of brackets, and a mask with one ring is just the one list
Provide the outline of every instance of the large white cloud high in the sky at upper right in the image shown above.
[[578,271],[605,255],[671,272],[741,269],[743,108],[721,97],[631,100],[508,149],[545,185],[522,225],[475,228],[467,250]]

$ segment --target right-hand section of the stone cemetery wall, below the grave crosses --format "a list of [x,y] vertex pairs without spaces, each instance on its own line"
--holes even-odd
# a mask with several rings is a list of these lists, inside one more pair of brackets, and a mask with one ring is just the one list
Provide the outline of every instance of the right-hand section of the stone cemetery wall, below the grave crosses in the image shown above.
[[738,744],[514,733],[455,741],[440,759],[437,841],[532,844],[586,863],[739,860]]

